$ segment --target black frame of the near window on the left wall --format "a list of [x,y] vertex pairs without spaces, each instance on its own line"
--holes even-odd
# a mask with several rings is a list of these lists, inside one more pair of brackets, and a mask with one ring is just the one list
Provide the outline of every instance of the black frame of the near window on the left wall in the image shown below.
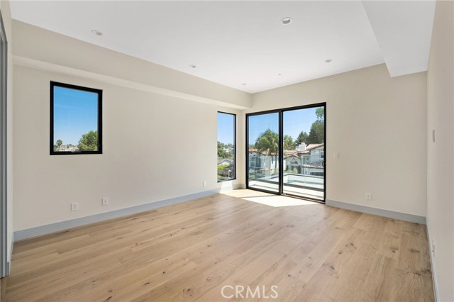
[[[54,87],[63,87],[67,89],[75,89],[88,91],[98,94],[98,150],[96,151],[54,151]],[[82,154],[102,154],[102,90],[50,81],[50,155],[82,155]]]

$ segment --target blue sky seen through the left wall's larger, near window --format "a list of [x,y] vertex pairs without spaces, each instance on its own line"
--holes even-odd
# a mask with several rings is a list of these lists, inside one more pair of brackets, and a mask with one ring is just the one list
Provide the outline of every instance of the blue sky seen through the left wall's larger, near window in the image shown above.
[[98,94],[54,86],[54,144],[79,143],[82,134],[98,129]]

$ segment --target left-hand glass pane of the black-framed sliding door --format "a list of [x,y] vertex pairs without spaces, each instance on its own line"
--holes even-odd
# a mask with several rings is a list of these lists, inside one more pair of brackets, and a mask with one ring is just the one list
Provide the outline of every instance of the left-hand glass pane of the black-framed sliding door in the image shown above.
[[279,113],[248,116],[251,189],[279,191]]

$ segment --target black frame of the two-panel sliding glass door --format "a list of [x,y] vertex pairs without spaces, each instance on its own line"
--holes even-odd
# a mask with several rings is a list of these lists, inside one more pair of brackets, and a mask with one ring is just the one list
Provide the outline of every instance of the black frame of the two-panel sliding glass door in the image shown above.
[[[304,197],[294,194],[284,193],[284,112],[286,111],[293,111],[299,109],[307,109],[307,108],[316,108],[316,107],[323,107],[324,111],[324,122],[323,122],[323,200],[311,197]],[[259,189],[259,188],[251,188],[249,186],[249,117],[250,116],[260,116],[263,114],[270,114],[270,113],[278,113],[279,114],[279,189],[278,192],[270,191],[266,189]],[[274,109],[268,111],[260,111],[260,112],[253,112],[253,113],[246,113],[246,189],[255,190],[255,191],[262,191],[265,193],[276,194],[276,195],[283,195],[283,196],[291,196],[295,198],[301,198],[310,201],[317,201],[320,203],[325,203],[326,201],[326,103],[317,103],[317,104],[309,104],[304,106],[296,106],[296,107],[288,107],[288,108],[281,108],[281,109]]]

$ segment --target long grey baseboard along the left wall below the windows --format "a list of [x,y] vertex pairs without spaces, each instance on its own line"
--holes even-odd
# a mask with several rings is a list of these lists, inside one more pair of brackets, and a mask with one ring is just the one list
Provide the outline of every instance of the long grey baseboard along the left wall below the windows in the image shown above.
[[233,185],[228,189],[213,189],[209,191],[202,191],[196,194],[189,194],[186,196],[179,196],[176,198],[170,198],[163,201],[155,201],[152,203],[145,203],[140,206],[133,206],[131,208],[122,208],[115,211],[99,213],[92,216],[85,216],[80,218],[75,218],[71,220],[60,221],[58,223],[50,223],[48,225],[40,225],[34,228],[28,228],[25,230],[17,230],[13,233],[13,240],[24,240],[31,237],[38,237],[41,235],[47,235],[50,233],[59,232],[61,230],[67,230],[69,228],[76,228],[81,225],[87,225],[89,223],[97,223],[103,220],[109,220],[112,218],[119,218],[122,216],[128,216],[135,213],[150,211],[155,208],[161,208],[163,206],[170,206],[175,203],[182,203],[185,201],[190,201],[192,199],[201,198],[205,196],[210,196],[214,194],[218,194],[221,191],[230,191],[231,189],[237,189],[240,185]]

